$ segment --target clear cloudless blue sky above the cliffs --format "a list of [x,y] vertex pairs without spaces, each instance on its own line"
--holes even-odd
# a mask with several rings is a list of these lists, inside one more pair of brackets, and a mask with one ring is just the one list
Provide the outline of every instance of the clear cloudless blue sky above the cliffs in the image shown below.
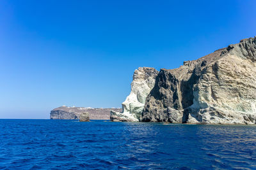
[[121,107],[134,69],[256,36],[256,1],[0,1],[0,118]]

